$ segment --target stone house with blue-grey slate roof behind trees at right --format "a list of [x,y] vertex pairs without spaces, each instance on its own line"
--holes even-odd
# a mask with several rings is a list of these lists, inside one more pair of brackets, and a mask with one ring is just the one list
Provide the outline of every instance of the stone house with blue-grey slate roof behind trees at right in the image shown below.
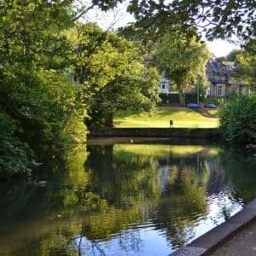
[[211,60],[207,63],[207,79],[210,82],[209,96],[227,96],[231,92],[244,92],[243,84],[234,79],[236,66],[233,61]]

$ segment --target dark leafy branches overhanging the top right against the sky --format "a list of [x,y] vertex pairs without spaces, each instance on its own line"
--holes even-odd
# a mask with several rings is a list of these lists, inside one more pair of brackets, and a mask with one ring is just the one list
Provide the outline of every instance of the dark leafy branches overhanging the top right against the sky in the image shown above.
[[[247,38],[255,26],[255,1],[138,1],[130,2],[128,11],[136,26],[153,38],[160,38],[170,27],[181,26],[191,36],[200,29],[208,39],[226,38],[232,34]],[[193,33],[192,33],[193,35]]]

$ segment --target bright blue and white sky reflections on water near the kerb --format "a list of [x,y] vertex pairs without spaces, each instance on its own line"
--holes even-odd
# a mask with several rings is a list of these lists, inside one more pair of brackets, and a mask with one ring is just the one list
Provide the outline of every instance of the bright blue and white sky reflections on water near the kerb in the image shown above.
[[[222,191],[207,198],[207,207],[206,215],[199,217],[197,223],[186,227],[187,233],[192,234],[186,243],[223,223],[224,209],[230,216],[241,211],[242,203],[235,201],[230,191]],[[113,235],[110,241],[90,241],[79,236],[75,238],[77,250],[80,244],[81,255],[168,255],[176,250],[170,243],[165,230],[157,230],[151,222],[139,224],[137,229],[122,230]]]

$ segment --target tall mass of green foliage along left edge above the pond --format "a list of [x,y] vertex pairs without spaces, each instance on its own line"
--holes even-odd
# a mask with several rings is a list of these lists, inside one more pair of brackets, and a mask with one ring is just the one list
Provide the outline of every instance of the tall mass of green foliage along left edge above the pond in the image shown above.
[[55,154],[70,140],[65,131],[69,120],[84,117],[80,87],[68,79],[70,63],[63,57],[70,45],[61,31],[73,24],[70,4],[1,1],[0,108],[15,131],[3,128],[10,154],[1,153],[0,175],[11,176],[19,168],[26,172],[28,148],[37,157]]

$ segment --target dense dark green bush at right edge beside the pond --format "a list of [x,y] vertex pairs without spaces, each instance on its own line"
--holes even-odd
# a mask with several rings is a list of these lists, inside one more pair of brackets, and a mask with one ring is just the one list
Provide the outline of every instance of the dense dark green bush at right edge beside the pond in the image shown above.
[[220,112],[221,133],[233,143],[256,143],[256,95],[232,96]]

